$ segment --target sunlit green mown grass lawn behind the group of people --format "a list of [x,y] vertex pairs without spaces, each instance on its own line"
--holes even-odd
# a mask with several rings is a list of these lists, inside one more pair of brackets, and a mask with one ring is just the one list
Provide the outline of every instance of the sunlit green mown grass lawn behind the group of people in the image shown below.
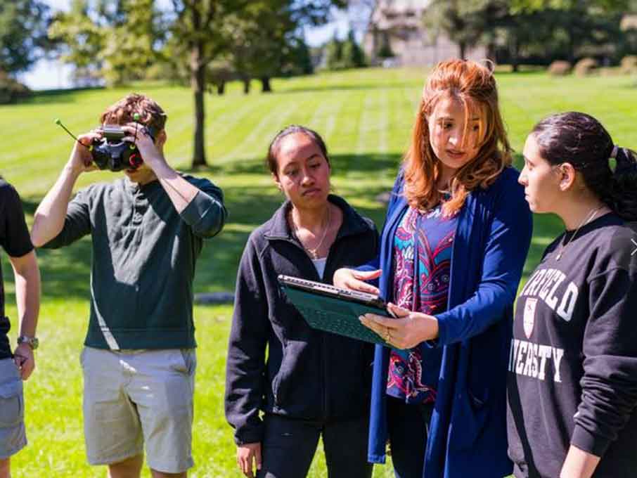
[[[281,79],[274,93],[244,96],[231,84],[226,96],[207,96],[207,176],[224,189],[229,222],[210,240],[198,262],[195,292],[232,290],[247,235],[268,219],[281,195],[266,174],[263,157],[276,131],[290,123],[323,135],[340,195],[382,225],[378,193],[392,186],[408,144],[424,70],[358,70]],[[551,112],[581,110],[596,116],[616,143],[637,147],[637,88],[630,77],[553,79],[541,73],[500,74],[498,82],[510,140],[519,153],[525,135]],[[256,86],[256,85],[255,85]],[[65,164],[72,140],[53,124],[60,117],[81,133],[96,126],[105,106],[130,89],[79,91],[36,96],[20,105],[0,106],[0,173],[22,195],[28,220]],[[192,98],[186,88],[143,84],[167,111],[169,162],[188,170],[193,131]],[[517,155],[520,164],[520,155]],[[109,181],[117,174],[84,175],[78,187]],[[548,242],[560,232],[555,217],[538,217],[525,277]],[[85,463],[81,414],[82,347],[88,316],[90,243],[82,240],[58,251],[39,251],[43,278],[37,371],[25,384],[29,446],[13,460],[15,477],[103,477],[103,468]],[[15,318],[11,267],[3,259],[8,316]],[[224,420],[226,341],[231,306],[198,306],[198,372],[195,397],[192,477],[239,477],[232,432]],[[15,341],[14,322],[11,340]],[[146,477],[150,476],[148,470]],[[317,454],[311,477],[326,476]],[[389,466],[374,477],[393,476]]]

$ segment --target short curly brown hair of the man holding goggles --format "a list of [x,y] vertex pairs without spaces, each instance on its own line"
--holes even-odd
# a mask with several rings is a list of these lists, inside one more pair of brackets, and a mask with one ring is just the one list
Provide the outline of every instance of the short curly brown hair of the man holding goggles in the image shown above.
[[120,101],[110,105],[100,116],[101,124],[126,124],[139,115],[139,122],[153,127],[159,132],[166,127],[168,117],[156,101],[139,93],[130,93]]

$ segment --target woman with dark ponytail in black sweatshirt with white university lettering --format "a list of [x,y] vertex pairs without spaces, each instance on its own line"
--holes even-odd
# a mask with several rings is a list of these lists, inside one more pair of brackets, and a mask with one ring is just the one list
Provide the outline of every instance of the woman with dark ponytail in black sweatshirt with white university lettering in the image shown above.
[[637,474],[635,153],[593,117],[552,115],[527,138],[533,212],[565,231],[517,299],[508,376],[516,477]]

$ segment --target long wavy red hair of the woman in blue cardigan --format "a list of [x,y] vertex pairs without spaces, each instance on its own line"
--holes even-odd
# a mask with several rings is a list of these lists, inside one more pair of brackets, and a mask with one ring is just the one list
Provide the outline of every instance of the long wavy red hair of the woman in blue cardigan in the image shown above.
[[442,208],[446,216],[458,212],[470,191],[486,188],[511,164],[511,148],[498,108],[498,90],[491,68],[473,61],[446,60],[432,71],[420,99],[411,146],[404,157],[404,194],[411,205],[430,209],[442,200],[436,183],[441,162],[430,144],[427,122],[441,98],[460,101],[465,110],[465,138],[469,115],[480,112],[477,155],[451,179],[451,199]]

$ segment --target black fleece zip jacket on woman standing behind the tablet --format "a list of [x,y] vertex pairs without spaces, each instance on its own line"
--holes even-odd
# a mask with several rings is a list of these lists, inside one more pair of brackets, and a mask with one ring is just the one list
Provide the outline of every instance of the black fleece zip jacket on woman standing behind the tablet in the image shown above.
[[[329,200],[342,210],[343,222],[330,247],[325,283],[336,269],[365,264],[378,253],[373,222],[342,198]],[[310,328],[279,288],[279,274],[321,280],[290,231],[290,207],[285,202],[252,232],[239,266],[225,400],[237,444],[262,441],[260,411],[321,422],[368,413],[371,344]]]

